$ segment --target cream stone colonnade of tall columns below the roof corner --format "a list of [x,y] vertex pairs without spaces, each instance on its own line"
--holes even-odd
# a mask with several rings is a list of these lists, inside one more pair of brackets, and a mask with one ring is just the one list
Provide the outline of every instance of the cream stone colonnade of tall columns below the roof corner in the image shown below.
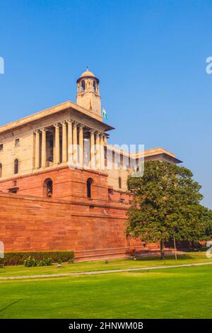
[[[35,169],[47,166],[47,131],[48,128],[35,130]],[[53,130],[53,131],[52,131]],[[85,132],[90,139],[90,169],[105,169],[105,142],[107,136],[93,128],[88,128],[76,120],[64,120],[55,123],[51,132],[54,137],[53,164],[66,164],[84,166],[84,136]]]

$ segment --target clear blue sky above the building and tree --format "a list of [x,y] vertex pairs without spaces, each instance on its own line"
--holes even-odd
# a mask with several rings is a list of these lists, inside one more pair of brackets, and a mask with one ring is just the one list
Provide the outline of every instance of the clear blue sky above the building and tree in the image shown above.
[[0,0],[0,125],[100,79],[112,144],[175,152],[212,208],[211,0]]

